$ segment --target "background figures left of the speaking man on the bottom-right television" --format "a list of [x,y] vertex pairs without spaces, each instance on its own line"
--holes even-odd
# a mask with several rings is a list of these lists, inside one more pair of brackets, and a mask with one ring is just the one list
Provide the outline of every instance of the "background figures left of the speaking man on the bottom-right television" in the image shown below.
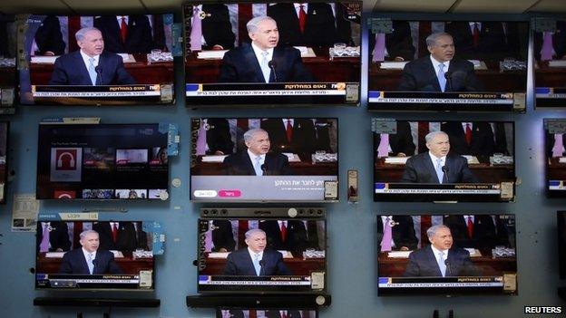
[[377,217],[377,242],[380,252],[414,250],[418,239],[415,235],[413,217]]

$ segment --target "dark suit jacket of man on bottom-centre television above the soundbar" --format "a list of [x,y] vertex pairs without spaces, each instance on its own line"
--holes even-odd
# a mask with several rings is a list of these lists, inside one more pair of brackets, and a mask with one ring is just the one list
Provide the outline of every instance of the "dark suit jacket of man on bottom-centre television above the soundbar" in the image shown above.
[[[283,263],[283,255],[278,251],[266,249],[263,251],[263,266],[259,275],[292,275],[287,265]],[[256,276],[256,270],[251,261],[248,247],[231,252],[226,259],[222,275]]]

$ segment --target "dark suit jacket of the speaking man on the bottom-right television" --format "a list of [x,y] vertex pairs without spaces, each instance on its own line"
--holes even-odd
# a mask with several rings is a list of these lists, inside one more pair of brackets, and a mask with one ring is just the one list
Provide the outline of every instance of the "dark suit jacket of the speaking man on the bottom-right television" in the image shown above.
[[[462,248],[448,250],[446,259],[446,276],[475,276],[480,275],[470,260],[470,253]],[[436,263],[431,246],[426,246],[409,255],[409,263],[405,267],[405,277],[438,277],[442,276]]]

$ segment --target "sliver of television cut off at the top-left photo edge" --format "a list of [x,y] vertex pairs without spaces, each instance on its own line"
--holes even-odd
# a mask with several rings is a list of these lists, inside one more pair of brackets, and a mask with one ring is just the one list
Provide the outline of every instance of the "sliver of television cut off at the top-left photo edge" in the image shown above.
[[15,16],[0,14],[0,112],[13,113],[8,109],[14,105],[16,71],[16,26]]

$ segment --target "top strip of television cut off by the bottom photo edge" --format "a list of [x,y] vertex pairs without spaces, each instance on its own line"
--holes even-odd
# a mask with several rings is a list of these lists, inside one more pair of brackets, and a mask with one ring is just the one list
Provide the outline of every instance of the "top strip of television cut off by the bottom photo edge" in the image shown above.
[[236,309],[219,308],[216,318],[318,318],[316,310],[307,309]]

